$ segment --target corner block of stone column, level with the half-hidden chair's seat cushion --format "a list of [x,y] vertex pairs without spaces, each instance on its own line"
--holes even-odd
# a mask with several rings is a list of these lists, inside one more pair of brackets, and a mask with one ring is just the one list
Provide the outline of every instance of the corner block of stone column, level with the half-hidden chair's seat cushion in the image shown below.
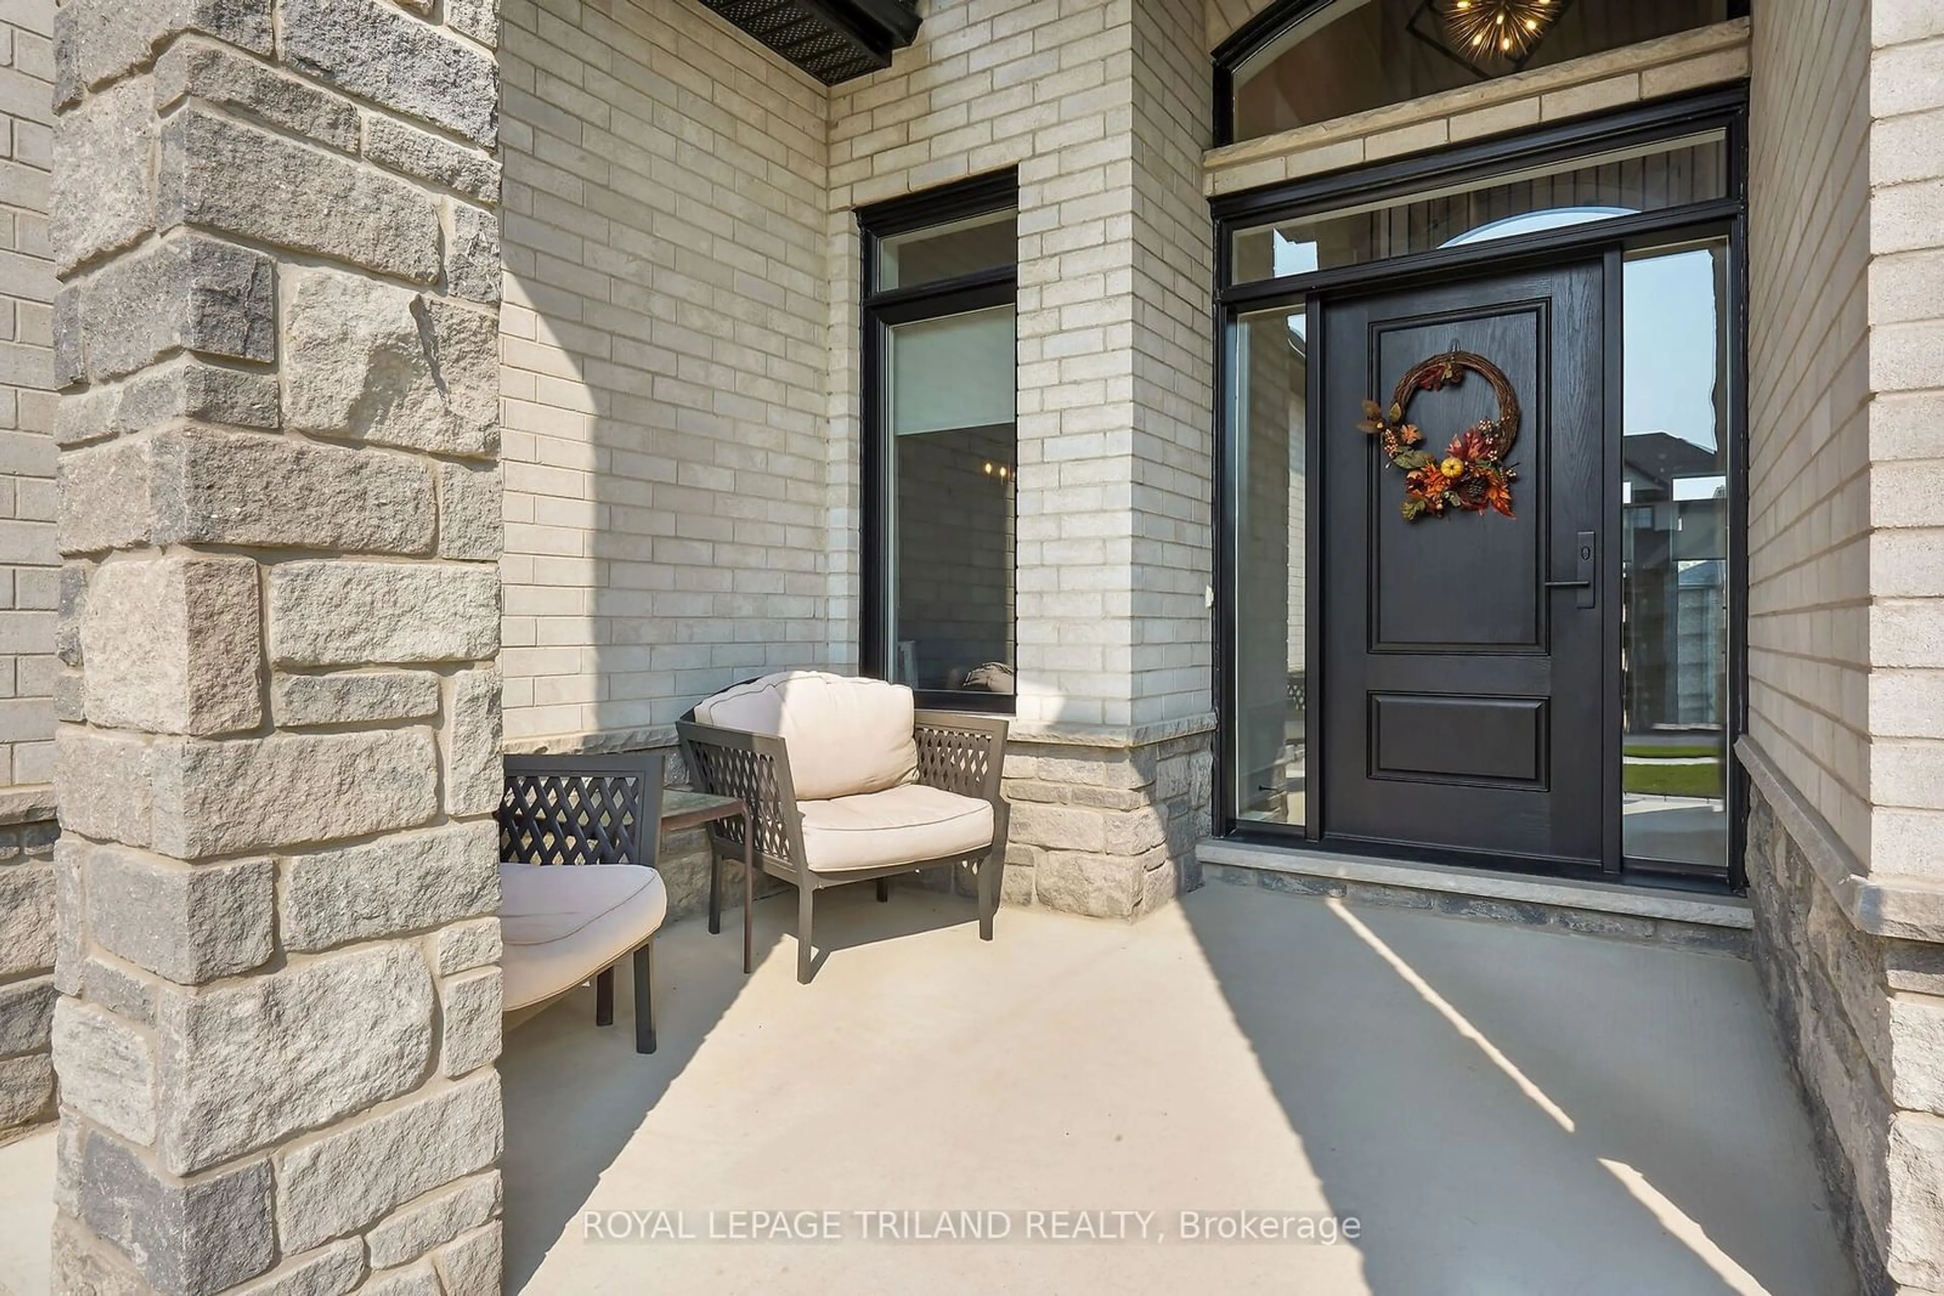
[[181,985],[270,958],[276,865],[175,865],[121,847],[86,851],[87,933],[111,954]]

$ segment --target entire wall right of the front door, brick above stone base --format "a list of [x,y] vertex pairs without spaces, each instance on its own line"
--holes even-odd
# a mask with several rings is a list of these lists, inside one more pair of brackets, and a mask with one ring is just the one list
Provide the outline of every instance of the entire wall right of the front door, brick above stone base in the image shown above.
[[1874,1292],[1944,1290],[1944,12],[1755,10],[1755,966]]

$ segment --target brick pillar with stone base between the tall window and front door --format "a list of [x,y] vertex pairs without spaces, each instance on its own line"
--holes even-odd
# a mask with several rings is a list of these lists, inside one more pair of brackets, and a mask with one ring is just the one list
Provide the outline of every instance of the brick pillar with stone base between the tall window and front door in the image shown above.
[[1089,19],[1019,167],[1007,898],[1139,917],[1198,884],[1209,820],[1211,72],[1199,4]]

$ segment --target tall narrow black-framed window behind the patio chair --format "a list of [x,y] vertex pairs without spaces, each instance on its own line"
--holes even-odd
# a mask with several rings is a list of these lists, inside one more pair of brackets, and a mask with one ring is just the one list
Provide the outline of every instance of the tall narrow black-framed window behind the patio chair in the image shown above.
[[859,212],[863,668],[933,705],[1013,701],[1015,206],[1007,175]]

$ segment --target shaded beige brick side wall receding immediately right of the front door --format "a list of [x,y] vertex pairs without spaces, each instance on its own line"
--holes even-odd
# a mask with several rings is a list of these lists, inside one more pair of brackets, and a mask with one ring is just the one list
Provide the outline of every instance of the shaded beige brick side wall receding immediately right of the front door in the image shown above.
[[1769,0],[1750,109],[1750,734],[1870,857],[1868,10]]

